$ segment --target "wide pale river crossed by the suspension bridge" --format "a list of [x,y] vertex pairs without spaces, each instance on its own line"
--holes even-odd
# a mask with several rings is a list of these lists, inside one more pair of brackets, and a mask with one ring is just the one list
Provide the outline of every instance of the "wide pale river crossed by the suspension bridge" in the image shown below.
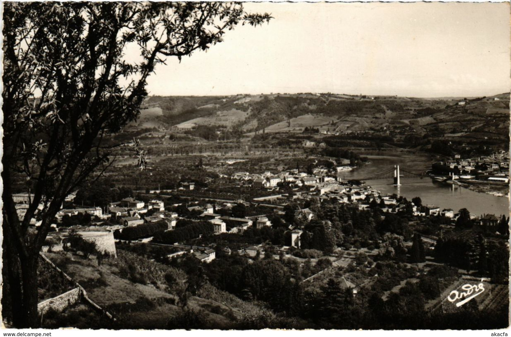
[[[352,171],[339,172],[338,176],[344,179],[360,179],[373,177],[400,165],[406,171],[422,173],[431,168],[435,158],[428,154],[388,153],[388,152],[363,152],[370,163]],[[444,208],[452,208],[457,212],[461,208],[467,208],[472,214],[501,214],[509,215],[509,200],[505,197],[475,192],[458,185],[450,185],[424,178],[401,178],[401,186],[394,186],[392,179],[367,180],[366,183],[383,193],[403,196],[408,200],[420,197],[422,203],[432,204]]]

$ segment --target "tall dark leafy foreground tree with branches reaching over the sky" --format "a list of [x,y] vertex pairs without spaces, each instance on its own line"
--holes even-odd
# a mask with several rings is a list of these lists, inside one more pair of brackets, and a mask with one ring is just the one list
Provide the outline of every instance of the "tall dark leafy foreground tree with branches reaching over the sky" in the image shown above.
[[[240,3],[4,6],[3,314],[14,326],[37,326],[38,254],[51,221],[69,192],[111,164],[118,145],[108,135],[137,118],[155,66],[270,18]],[[125,59],[128,49],[140,51],[138,61]],[[30,195],[23,218],[17,191]]]

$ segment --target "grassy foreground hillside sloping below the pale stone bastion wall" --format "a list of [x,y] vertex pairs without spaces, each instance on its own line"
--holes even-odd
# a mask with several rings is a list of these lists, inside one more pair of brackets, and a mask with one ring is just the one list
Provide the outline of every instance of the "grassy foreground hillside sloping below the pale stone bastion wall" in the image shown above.
[[[109,321],[90,308],[77,305],[61,315],[45,317],[43,327],[165,329],[193,327],[179,324],[202,324],[202,328],[207,326],[229,329],[236,328],[236,324],[242,323],[247,315],[274,316],[268,310],[219,291],[210,284],[203,285],[197,296],[190,298],[183,311],[176,305],[177,297],[165,291],[154,277],[165,272],[166,266],[142,257],[134,257],[132,253],[122,250],[118,251],[118,255],[118,259],[103,260],[98,264],[95,258],[84,259],[71,253],[47,253],[59,268],[85,288],[91,300],[111,312],[116,321]],[[137,262],[132,264],[134,261]],[[141,266],[141,263],[146,266]],[[153,277],[151,281],[133,278],[133,270],[140,271],[142,275],[147,268],[149,269],[145,273],[151,275],[147,277]],[[149,270],[150,273],[147,273]],[[190,317],[183,315],[192,315],[195,321],[190,321]],[[173,321],[174,325],[169,326],[170,321]]]

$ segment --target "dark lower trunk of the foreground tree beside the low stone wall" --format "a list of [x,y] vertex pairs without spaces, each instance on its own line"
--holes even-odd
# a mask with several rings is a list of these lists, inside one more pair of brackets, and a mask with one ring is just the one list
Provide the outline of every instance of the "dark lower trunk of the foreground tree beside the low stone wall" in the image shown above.
[[21,328],[36,328],[39,325],[37,312],[37,266],[39,254],[31,253],[30,256],[21,261],[22,273],[22,322]]

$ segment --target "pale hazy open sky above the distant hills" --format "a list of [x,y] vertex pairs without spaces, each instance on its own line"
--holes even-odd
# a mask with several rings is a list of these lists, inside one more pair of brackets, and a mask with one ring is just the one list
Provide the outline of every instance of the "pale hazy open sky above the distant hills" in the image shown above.
[[246,3],[274,19],[148,79],[150,95],[509,92],[508,3]]

